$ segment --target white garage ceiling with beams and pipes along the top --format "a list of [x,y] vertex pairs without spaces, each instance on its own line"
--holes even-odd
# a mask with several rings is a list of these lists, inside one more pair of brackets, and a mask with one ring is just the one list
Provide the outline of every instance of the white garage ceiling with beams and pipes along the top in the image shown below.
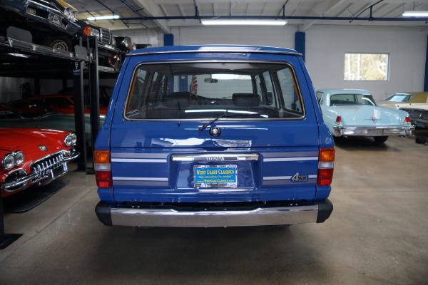
[[121,30],[201,26],[200,19],[287,19],[300,31],[318,24],[424,26],[428,18],[404,18],[402,12],[428,11],[427,0],[67,0],[78,19],[117,14],[121,19],[93,24]]

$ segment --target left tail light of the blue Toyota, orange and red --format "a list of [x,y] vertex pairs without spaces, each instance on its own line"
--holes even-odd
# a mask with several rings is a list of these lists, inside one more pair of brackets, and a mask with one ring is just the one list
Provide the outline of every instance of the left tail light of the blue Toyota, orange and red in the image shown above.
[[111,160],[108,150],[93,152],[93,170],[95,170],[96,185],[100,188],[112,188]]

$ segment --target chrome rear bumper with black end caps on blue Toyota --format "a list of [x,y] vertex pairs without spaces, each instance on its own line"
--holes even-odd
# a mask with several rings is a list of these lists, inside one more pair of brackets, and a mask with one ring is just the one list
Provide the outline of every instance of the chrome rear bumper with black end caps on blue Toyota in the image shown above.
[[[179,204],[179,203],[177,203]],[[138,207],[99,202],[95,212],[106,226],[134,227],[247,227],[277,224],[324,222],[333,210],[329,199],[317,202],[284,202],[275,206],[259,204],[253,209],[224,207],[180,209]]]

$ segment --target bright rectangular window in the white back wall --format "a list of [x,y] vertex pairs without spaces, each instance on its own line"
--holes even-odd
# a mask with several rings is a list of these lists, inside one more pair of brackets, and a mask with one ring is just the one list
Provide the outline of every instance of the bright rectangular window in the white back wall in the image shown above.
[[387,81],[388,53],[345,53],[345,81]]

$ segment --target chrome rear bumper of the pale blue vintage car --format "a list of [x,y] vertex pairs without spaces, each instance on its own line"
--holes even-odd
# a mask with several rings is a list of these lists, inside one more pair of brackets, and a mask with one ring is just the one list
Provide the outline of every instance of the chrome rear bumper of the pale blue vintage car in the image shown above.
[[367,137],[377,137],[384,135],[405,135],[411,136],[414,126],[387,126],[387,127],[367,127],[367,126],[339,126],[334,125],[335,132],[332,135],[362,135]]

